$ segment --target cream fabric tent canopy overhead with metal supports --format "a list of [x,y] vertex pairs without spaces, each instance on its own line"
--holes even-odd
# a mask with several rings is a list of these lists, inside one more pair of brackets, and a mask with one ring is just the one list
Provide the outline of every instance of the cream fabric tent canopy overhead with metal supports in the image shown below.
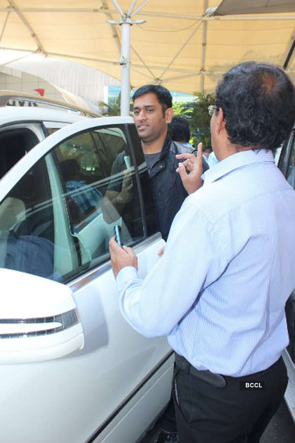
[[[210,92],[225,70],[245,60],[283,65],[289,57],[287,70],[295,70],[295,13],[207,17],[218,1],[118,0],[124,12],[131,3],[132,19],[146,20],[131,27],[133,87],[160,82],[171,90]],[[245,2],[221,7],[236,3]],[[295,9],[294,0],[282,3]],[[72,60],[119,79],[121,27],[107,19],[120,19],[111,0],[0,0],[0,48]]]

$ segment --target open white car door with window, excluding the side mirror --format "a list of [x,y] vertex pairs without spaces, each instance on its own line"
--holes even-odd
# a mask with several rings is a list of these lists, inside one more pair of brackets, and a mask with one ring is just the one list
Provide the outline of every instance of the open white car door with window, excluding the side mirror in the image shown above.
[[69,285],[85,336],[67,357],[0,366],[7,443],[136,442],[169,400],[171,349],[123,319],[109,260],[115,224],[138,253],[141,277],[163,244],[138,143],[130,118],[81,121],[29,151],[0,182],[0,266]]

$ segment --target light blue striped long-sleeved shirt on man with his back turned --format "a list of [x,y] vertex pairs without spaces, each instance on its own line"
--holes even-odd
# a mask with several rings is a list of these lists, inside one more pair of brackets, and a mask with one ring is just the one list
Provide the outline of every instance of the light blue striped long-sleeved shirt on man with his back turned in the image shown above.
[[288,345],[285,303],[295,287],[295,191],[270,151],[244,151],[203,175],[177,213],[163,257],[144,281],[117,277],[130,325],[198,369],[243,376]]

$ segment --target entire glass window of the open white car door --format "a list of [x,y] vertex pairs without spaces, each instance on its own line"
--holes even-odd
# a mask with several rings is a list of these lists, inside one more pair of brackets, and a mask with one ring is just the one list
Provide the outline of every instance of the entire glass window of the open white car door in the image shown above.
[[[144,237],[123,127],[76,134],[39,160],[0,203],[0,266],[67,281]],[[21,254],[19,253],[21,251]]]

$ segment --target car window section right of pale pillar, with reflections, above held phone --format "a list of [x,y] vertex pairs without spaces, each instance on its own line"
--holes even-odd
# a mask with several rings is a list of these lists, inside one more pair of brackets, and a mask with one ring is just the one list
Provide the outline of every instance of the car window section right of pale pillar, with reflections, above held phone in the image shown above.
[[[114,235],[115,224],[121,226],[125,245],[143,238],[135,171],[121,127],[75,135],[56,147],[55,156],[82,268],[109,257],[109,239]],[[123,198],[126,177],[128,198]]]

